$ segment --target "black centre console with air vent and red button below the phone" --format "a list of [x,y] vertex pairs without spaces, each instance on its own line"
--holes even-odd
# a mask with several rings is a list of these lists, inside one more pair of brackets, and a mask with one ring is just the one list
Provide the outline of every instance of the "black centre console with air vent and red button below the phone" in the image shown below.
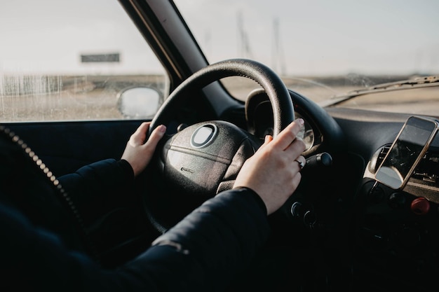
[[[433,284],[438,272],[439,137],[423,155],[407,184],[389,188],[374,179],[391,144],[381,146],[367,164],[357,195],[356,256],[366,270],[389,279]],[[386,267],[393,267],[388,269]]]

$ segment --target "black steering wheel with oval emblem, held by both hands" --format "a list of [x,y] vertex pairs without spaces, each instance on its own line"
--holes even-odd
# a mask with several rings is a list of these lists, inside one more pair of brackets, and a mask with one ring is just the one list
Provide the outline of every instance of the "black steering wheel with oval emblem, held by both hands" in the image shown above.
[[[273,108],[273,137],[295,120],[292,100],[281,78],[264,64],[234,59],[211,64],[181,83],[156,113],[149,134],[170,122],[188,93],[231,76],[250,78],[265,90]],[[261,145],[252,134],[221,120],[197,123],[163,137],[149,167],[155,188],[151,191],[149,186],[144,195],[151,223],[165,232],[205,200],[232,188],[245,160]]]

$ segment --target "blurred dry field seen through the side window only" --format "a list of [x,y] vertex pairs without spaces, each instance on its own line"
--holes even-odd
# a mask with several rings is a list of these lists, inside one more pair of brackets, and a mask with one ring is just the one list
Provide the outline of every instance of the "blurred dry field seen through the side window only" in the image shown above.
[[4,78],[0,82],[1,121],[120,119],[118,93],[133,86],[163,93],[166,81],[155,75]]

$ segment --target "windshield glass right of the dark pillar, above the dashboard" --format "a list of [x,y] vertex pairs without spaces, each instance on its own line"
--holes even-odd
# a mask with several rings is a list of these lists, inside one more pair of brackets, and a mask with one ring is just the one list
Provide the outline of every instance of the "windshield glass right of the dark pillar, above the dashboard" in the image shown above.
[[[210,63],[236,57],[257,60],[276,71],[288,88],[318,103],[328,104],[351,90],[439,74],[439,1],[175,0],[175,4]],[[224,85],[245,100],[248,90],[242,82],[227,78]],[[428,95],[437,100],[435,88]],[[337,106],[356,107],[357,99],[367,98],[361,95],[356,102],[351,99]],[[392,106],[382,107],[386,98],[388,104],[398,102],[381,95],[379,106],[366,102],[368,109],[391,111]]]

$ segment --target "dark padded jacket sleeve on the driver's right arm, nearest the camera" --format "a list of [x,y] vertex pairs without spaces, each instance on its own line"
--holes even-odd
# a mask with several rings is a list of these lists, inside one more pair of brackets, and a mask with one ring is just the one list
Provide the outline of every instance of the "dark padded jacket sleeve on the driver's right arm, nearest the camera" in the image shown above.
[[165,291],[223,291],[268,237],[261,202],[245,188],[217,195],[158,237],[130,268],[140,271],[142,259],[154,260],[151,274]]

